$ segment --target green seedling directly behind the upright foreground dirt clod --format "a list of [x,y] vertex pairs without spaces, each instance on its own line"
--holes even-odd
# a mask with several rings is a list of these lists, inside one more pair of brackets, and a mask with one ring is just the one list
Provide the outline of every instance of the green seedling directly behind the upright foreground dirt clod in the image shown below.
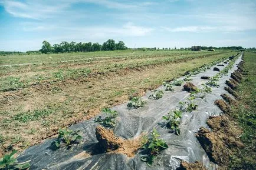
[[111,111],[110,108],[104,108],[102,109],[102,112],[105,114],[104,118],[99,116],[94,119],[94,122],[99,122],[99,124],[109,128],[116,126],[117,111]]

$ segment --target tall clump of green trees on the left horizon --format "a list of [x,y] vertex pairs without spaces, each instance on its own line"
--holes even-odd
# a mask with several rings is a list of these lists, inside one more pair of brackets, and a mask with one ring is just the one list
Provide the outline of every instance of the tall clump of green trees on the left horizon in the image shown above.
[[40,52],[44,54],[48,53],[64,53],[64,52],[90,52],[90,51],[114,51],[114,50],[124,50],[127,49],[123,41],[116,43],[113,39],[109,39],[103,43],[76,43],[74,41],[68,43],[66,41],[61,42],[60,44],[51,44],[47,41],[42,42],[42,48]]

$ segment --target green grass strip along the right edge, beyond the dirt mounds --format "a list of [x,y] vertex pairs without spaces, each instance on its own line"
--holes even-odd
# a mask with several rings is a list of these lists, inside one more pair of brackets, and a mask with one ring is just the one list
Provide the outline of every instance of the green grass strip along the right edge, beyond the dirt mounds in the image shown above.
[[245,52],[244,61],[248,75],[244,76],[237,89],[241,99],[237,106],[232,106],[232,118],[243,131],[240,138],[245,148],[232,156],[229,169],[254,169],[256,166],[256,52]]

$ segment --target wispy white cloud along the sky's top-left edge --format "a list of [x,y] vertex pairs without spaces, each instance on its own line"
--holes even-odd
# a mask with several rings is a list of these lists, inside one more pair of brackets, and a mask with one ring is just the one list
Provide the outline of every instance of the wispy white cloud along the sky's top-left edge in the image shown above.
[[112,9],[126,9],[126,10],[142,10],[146,6],[156,4],[155,2],[143,2],[143,3],[127,3],[119,1],[109,1],[109,0],[56,0],[56,1],[32,1],[27,0],[24,2],[18,1],[8,1],[4,0],[0,3],[5,8],[5,11],[9,14],[20,17],[20,18],[30,18],[30,19],[47,19],[54,18],[54,15],[61,15],[67,12],[67,9],[71,5],[76,3],[90,3],[100,6],[105,6],[106,8]]

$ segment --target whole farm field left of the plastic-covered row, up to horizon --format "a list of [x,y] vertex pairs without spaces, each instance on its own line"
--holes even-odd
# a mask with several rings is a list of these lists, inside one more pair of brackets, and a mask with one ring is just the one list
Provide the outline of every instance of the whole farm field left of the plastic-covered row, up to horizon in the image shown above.
[[[114,51],[0,57],[1,154],[237,51]],[[25,64],[25,65],[24,65]],[[6,66],[12,65],[12,66]]]

